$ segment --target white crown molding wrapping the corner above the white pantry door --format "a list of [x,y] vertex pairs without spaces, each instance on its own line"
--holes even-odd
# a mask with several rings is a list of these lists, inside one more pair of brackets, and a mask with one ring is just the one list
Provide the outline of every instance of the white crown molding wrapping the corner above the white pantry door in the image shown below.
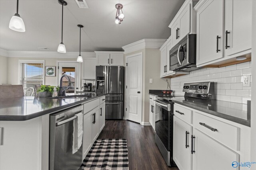
[[123,46],[124,54],[138,51],[141,49],[159,49],[165,43],[166,39],[142,39],[134,43]]

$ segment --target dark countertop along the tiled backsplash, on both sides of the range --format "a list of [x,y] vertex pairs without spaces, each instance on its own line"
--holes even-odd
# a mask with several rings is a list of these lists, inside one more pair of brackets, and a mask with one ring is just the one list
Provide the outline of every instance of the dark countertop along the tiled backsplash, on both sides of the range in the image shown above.
[[[157,95],[157,92],[150,90],[150,95]],[[172,94],[172,102],[196,109],[223,119],[227,119],[242,125],[250,127],[250,101],[248,104],[240,104],[234,102],[225,102],[221,100],[201,100],[196,98],[184,98],[183,96],[175,96]]]

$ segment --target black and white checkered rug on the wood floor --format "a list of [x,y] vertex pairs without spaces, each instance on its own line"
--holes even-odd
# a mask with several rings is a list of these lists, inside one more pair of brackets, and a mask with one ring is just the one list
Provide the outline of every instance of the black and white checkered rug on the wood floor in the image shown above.
[[128,170],[126,139],[97,139],[79,170]]

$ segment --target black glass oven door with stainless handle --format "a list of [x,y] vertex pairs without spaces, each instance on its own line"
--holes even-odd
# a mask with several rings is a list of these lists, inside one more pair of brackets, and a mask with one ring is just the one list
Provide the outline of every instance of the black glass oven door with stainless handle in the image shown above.
[[171,150],[171,104],[164,104],[164,102],[156,102],[156,134],[163,143],[166,150]]

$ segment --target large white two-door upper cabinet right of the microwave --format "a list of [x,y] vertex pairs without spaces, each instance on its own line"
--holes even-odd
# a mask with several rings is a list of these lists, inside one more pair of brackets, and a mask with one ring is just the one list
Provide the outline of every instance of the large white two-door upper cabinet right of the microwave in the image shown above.
[[251,53],[252,0],[200,0],[197,16],[196,64],[221,65]]

